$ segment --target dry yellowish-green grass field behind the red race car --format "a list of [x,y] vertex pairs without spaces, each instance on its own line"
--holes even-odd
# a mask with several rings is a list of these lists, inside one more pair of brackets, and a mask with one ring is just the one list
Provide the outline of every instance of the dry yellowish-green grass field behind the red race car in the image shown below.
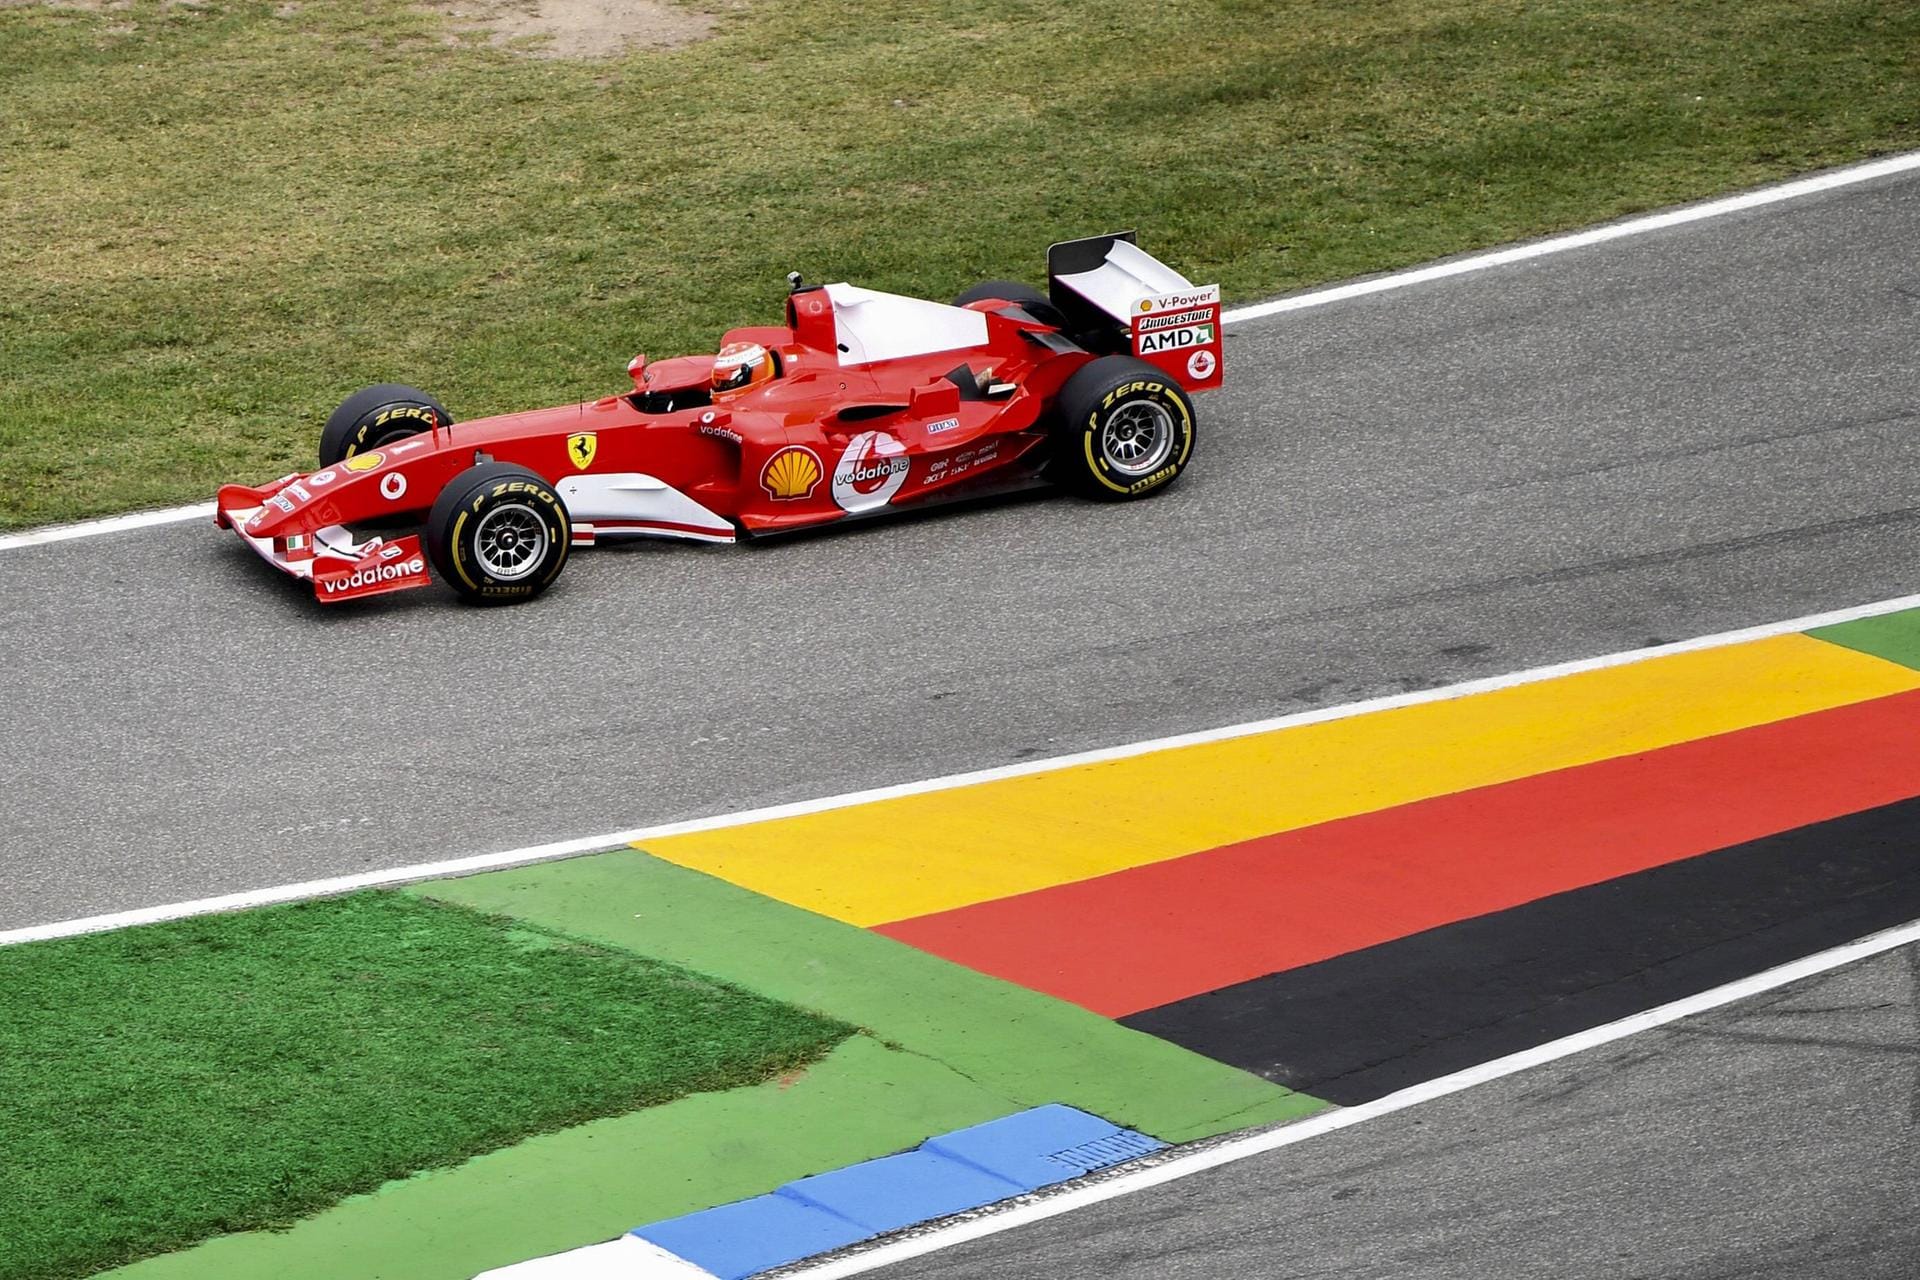
[[710,349],[781,274],[950,296],[1139,226],[1236,297],[1920,144],[1887,0],[756,0],[526,59],[403,0],[0,4],[0,526]]

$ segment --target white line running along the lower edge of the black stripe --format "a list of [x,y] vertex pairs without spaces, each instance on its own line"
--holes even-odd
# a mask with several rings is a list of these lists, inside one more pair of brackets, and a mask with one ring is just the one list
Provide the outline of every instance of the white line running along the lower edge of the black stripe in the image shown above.
[[789,1280],[839,1280],[841,1276],[858,1276],[862,1272],[922,1257],[937,1249],[950,1249],[972,1240],[981,1240],[983,1236],[996,1236],[1000,1232],[1052,1219],[1062,1213],[1071,1213],[1075,1209],[1085,1209],[1100,1201],[1144,1192],[1165,1182],[1177,1182],[1179,1178],[1188,1178],[1208,1169],[1217,1169],[1221,1165],[1277,1151],[1298,1142],[1308,1142],[1309,1138],[1319,1138],[1321,1134],[1352,1128],[1354,1125],[1363,1125],[1367,1121],[1380,1119],[1382,1115],[1392,1115],[1394,1111],[1405,1111],[1407,1107],[1434,1102],[1436,1098],[1446,1098],[1448,1094],[1459,1094],[1475,1088],[1476,1084],[1488,1084],[1490,1080],[1498,1080],[1501,1077],[1517,1075],[1561,1057],[1571,1057],[1615,1040],[1624,1040],[1644,1031],[1665,1027],[1667,1023],[1674,1023],[1682,1017],[1707,1013],[1726,1004],[1734,1004],[1736,1000],[1745,1000],[1747,996],[1757,996],[1761,992],[1774,990],[1776,986],[1786,986],[1788,983],[1797,983],[1830,969],[1839,969],[1841,965],[1849,965],[1857,960],[1868,960],[1870,956],[1889,952],[1897,946],[1907,946],[1908,942],[1920,942],[1920,921],[1897,925],[1855,942],[1845,942],[1832,950],[1776,965],[1763,973],[1755,973],[1753,977],[1715,986],[1713,990],[1699,992],[1697,996],[1686,996],[1682,1000],[1674,1000],[1672,1004],[1663,1004],[1657,1009],[1647,1009],[1644,1013],[1622,1017],[1615,1023],[1605,1023],[1603,1027],[1594,1027],[1590,1031],[1563,1036],[1561,1040],[1521,1050],[1519,1054],[1509,1054],[1507,1057],[1496,1057],[1490,1063],[1467,1067],[1465,1071],[1455,1071],[1453,1075],[1444,1075],[1440,1079],[1404,1088],[1398,1094],[1388,1094],[1386,1098],[1379,1098],[1375,1102],[1321,1111],[1319,1115],[1311,1115],[1292,1125],[1260,1130],[1246,1138],[1235,1138],[1198,1151],[1177,1153],[1144,1169],[1062,1192],[1060,1196],[1020,1203],[998,1213],[989,1211],[981,1217],[964,1219],[950,1226],[939,1226],[920,1236],[876,1245],[874,1249],[783,1274]]

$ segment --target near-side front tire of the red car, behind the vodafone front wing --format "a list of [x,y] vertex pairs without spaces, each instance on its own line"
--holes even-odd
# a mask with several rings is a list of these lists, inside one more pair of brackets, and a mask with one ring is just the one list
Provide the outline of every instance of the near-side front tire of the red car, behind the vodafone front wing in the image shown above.
[[553,486],[524,466],[482,462],[440,491],[426,516],[426,553],[463,599],[515,604],[553,585],[572,533]]

